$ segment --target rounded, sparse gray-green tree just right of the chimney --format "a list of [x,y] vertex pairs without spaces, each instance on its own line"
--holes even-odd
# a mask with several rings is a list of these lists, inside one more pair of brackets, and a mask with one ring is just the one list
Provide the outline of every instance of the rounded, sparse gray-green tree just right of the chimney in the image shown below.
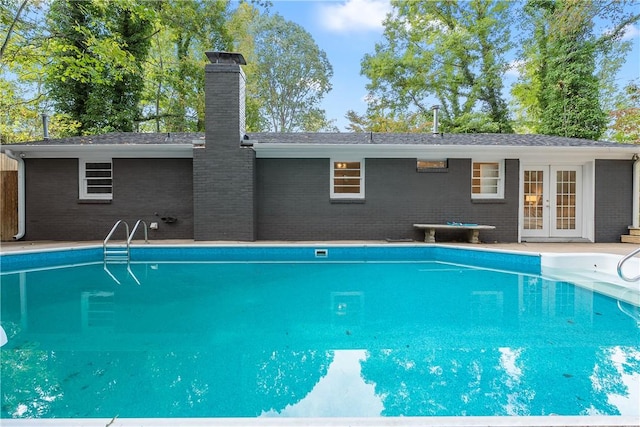
[[256,82],[249,96],[260,100],[258,122],[268,124],[262,130],[333,130],[319,108],[331,90],[333,68],[311,35],[280,15],[257,16],[249,34],[255,62],[250,77]]

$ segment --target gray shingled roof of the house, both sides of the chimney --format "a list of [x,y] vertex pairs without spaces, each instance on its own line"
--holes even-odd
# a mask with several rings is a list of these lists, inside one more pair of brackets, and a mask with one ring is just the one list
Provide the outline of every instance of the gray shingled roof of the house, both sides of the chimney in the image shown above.
[[[468,145],[506,147],[629,147],[629,144],[566,138],[549,135],[523,134],[425,134],[425,133],[249,133],[248,142],[280,144],[364,144],[364,145]],[[70,138],[30,141],[13,145],[160,145],[192,144],[205,140],[203,132],[127,133],[76,136]]]

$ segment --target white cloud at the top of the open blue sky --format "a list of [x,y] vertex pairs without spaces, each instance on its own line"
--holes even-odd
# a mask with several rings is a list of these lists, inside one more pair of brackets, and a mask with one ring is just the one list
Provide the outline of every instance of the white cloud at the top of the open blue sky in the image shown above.
[[338,32],[382,29],[382,21],[391,11],[389,0],[347,0],[322,3],[320,20],[325,28]]

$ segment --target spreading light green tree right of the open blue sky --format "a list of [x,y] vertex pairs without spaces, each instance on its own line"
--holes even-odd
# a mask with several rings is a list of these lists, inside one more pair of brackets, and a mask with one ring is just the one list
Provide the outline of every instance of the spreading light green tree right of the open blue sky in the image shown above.
[[443,130],[511,132],[501,94],[504,55],[510,47],[510,3],[442,0],[392,5],[395,12],[385,21],[385,42],[362,61],[375,101],[370,115],[418,112],[428,120],[435,99]]

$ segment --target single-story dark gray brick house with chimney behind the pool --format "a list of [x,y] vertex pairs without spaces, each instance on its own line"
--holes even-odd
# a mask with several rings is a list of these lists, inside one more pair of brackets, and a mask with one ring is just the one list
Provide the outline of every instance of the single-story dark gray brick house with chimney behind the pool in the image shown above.
[[[16,238],[422,240],[414,223],[494,225],[483,241],[618,242],[638,227],[640,148],[508,134],[250,133],[243,59],[208,53],[206,132],[11,144]],[[439,239],[457,239],[455,232]]]

